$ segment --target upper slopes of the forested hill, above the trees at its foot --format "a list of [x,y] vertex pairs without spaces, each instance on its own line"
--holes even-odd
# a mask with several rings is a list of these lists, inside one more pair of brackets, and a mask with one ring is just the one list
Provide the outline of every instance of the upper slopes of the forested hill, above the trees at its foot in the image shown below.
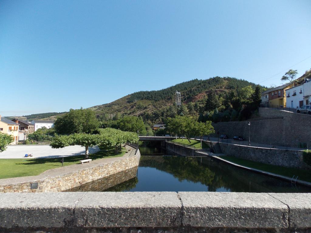
[[156,121],[159,118],[157,116],[168,116],[168,111],[174,111],[172,107],[174,107],[176,91],[181,92],[183,104],[198,102],[202,108],[209,92],[215,91],[221,99],[225,98],[225,95],[229,92],[237,94],[239,90],[246,86],[255,89],[256,84],[246,80],[218,76],[206,80],[194,79],[157,91],[135,92],[112,103],[97,105],[90,109],[94,110],[102,120],[124,114],[142,116],[144,119]]

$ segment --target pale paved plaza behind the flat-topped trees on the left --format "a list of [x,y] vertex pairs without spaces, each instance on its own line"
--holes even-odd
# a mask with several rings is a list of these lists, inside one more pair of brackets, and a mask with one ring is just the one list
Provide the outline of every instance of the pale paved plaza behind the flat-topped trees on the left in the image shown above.
[[[93,154],[100,151],[98,146],[89,148],[89,153]],[[59,158],[85,154],[85,147],[67,146],[64,148],[53,149],[49,145],[16,145],[8,146],[0,153],[0,158],[25,158],[25,154],[32,154],[29,158]]]

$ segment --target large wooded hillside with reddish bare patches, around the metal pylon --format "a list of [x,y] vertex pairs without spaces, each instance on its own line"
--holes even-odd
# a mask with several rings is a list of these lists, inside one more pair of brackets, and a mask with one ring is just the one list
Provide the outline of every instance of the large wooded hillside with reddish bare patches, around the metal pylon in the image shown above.
[[[98,119],[103,122],[119,120],[122,116],[139,116],[151,125],[177,115],[201,116],[201,118],[203,116],[202,121],[205,122],[213,120],[207,116],[214,114],[214,111],[220,112],[221,115],[221,112],[230,108],[237,111],[232,117],[232,120],[237,120],[241,108],[246,107],[245,101],[251,99],[256,87],[255,83],[246,80],[216,76],[207,80],[190,80],[157,91],[135,92],[112,103],[89,109],[95,111]],[[260,93],[265,87],[258,86],[258,88]],[[181,92],[180,107],[175,104],[176,91]],[[225,120],[230,120],[228,114],[232,115],[232,110],[225,114]],[[220,115],[219,118],[222,118]],[[241,118],[243,117],[240,116]]]

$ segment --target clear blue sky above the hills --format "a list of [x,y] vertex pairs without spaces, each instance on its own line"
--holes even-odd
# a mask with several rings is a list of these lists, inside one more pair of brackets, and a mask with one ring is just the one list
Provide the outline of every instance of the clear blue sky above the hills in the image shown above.
[[0,114],[86,108],[216,75],[281,85],[288,69],[311,68],[310,10],[310,0],[1,0]]

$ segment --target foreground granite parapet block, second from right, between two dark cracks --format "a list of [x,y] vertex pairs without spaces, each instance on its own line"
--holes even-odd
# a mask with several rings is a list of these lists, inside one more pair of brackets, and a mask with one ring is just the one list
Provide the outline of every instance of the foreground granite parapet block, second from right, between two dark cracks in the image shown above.
[[183,225],[286,228],[288,208],[265,193],[179,192]]

